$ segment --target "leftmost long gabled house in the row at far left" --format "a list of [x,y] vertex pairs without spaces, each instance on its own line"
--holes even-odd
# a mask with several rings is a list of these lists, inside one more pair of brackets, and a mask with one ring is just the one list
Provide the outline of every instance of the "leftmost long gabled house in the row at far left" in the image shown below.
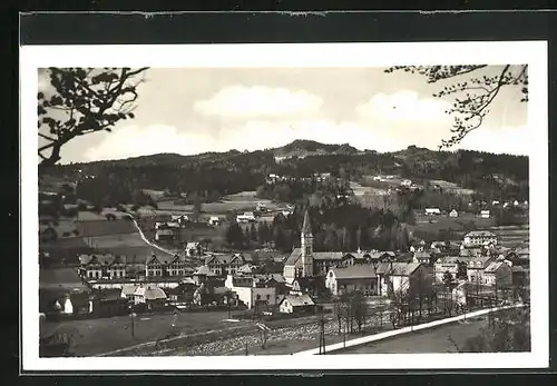
[[126,257],[110,254],[79,256],[79,275],[86,279],[126,277]]

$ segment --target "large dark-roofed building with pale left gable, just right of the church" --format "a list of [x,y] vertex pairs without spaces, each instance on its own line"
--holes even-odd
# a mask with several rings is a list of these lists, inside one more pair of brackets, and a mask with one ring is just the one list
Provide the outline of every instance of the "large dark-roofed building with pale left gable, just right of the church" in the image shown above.
[[371,264],[331,268],[325,277],[325,287],[334,296],[356,290],[364,295],[375,295],[378,291],[378,277]]

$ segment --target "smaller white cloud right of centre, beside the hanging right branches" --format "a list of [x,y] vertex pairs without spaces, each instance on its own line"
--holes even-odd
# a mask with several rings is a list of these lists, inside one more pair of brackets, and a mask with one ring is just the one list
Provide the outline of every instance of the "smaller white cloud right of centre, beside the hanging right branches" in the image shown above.
[[403,90],[395,93],[377,93],[369,101],[356,106],[364,119],[380,121],[442,120],[450,107],[446,100],[419,98],[418,92]]

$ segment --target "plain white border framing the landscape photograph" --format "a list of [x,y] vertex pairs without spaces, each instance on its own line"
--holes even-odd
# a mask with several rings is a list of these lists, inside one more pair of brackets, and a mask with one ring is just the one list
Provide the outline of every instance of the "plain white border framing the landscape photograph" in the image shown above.
[[[529,65],[531,353],[245,357],[39,358],[37,69],[41,67],[297,68],[393,65]],[[25,46],[21,66],[23,370],[320,370],[543,368],[549,364],[547,42],[199,46]]]

